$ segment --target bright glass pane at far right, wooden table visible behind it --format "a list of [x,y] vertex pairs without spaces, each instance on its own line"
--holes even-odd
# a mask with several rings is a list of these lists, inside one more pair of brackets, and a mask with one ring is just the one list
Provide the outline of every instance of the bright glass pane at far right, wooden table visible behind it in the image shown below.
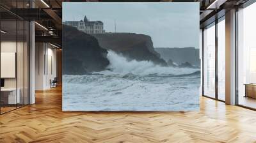
[[256,3],[238,14],[237,103],[256,109]]

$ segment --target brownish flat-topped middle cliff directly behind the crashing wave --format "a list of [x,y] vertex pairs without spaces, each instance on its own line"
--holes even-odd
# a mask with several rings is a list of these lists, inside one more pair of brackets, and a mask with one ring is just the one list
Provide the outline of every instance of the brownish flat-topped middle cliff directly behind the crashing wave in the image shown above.
[[152,61],[166,66],[166,62],[160,58],[154,50],[151,37],[145,34],[135,33],[104,33],[93,34],[104,49],[113,50],[128,59],[137,61]]

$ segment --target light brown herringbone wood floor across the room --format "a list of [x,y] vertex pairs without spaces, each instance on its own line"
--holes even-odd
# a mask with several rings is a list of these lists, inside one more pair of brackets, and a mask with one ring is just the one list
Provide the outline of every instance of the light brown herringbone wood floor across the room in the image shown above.
[[0,116],[0,142],[256,142],[255,111],[200,103],[200,112],[62,112],[59,87]]

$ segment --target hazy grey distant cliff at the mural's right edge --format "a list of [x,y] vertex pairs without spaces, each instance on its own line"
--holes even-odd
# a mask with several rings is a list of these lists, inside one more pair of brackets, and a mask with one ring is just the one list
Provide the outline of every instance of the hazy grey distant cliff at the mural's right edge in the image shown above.
[[185,65],[184,63],[200,66],[199,49],[193,47],[186,48],[155,48],[165,61],[173,61],[177,64]]

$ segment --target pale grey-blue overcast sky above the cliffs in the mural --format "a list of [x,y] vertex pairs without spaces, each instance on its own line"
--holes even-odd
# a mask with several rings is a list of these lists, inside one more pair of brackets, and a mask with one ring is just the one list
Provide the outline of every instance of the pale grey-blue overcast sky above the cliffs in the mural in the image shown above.
[[154,47],[199,46],[199,3],[63,3],[63,22],[100,20],[106,32],[151,36]]

